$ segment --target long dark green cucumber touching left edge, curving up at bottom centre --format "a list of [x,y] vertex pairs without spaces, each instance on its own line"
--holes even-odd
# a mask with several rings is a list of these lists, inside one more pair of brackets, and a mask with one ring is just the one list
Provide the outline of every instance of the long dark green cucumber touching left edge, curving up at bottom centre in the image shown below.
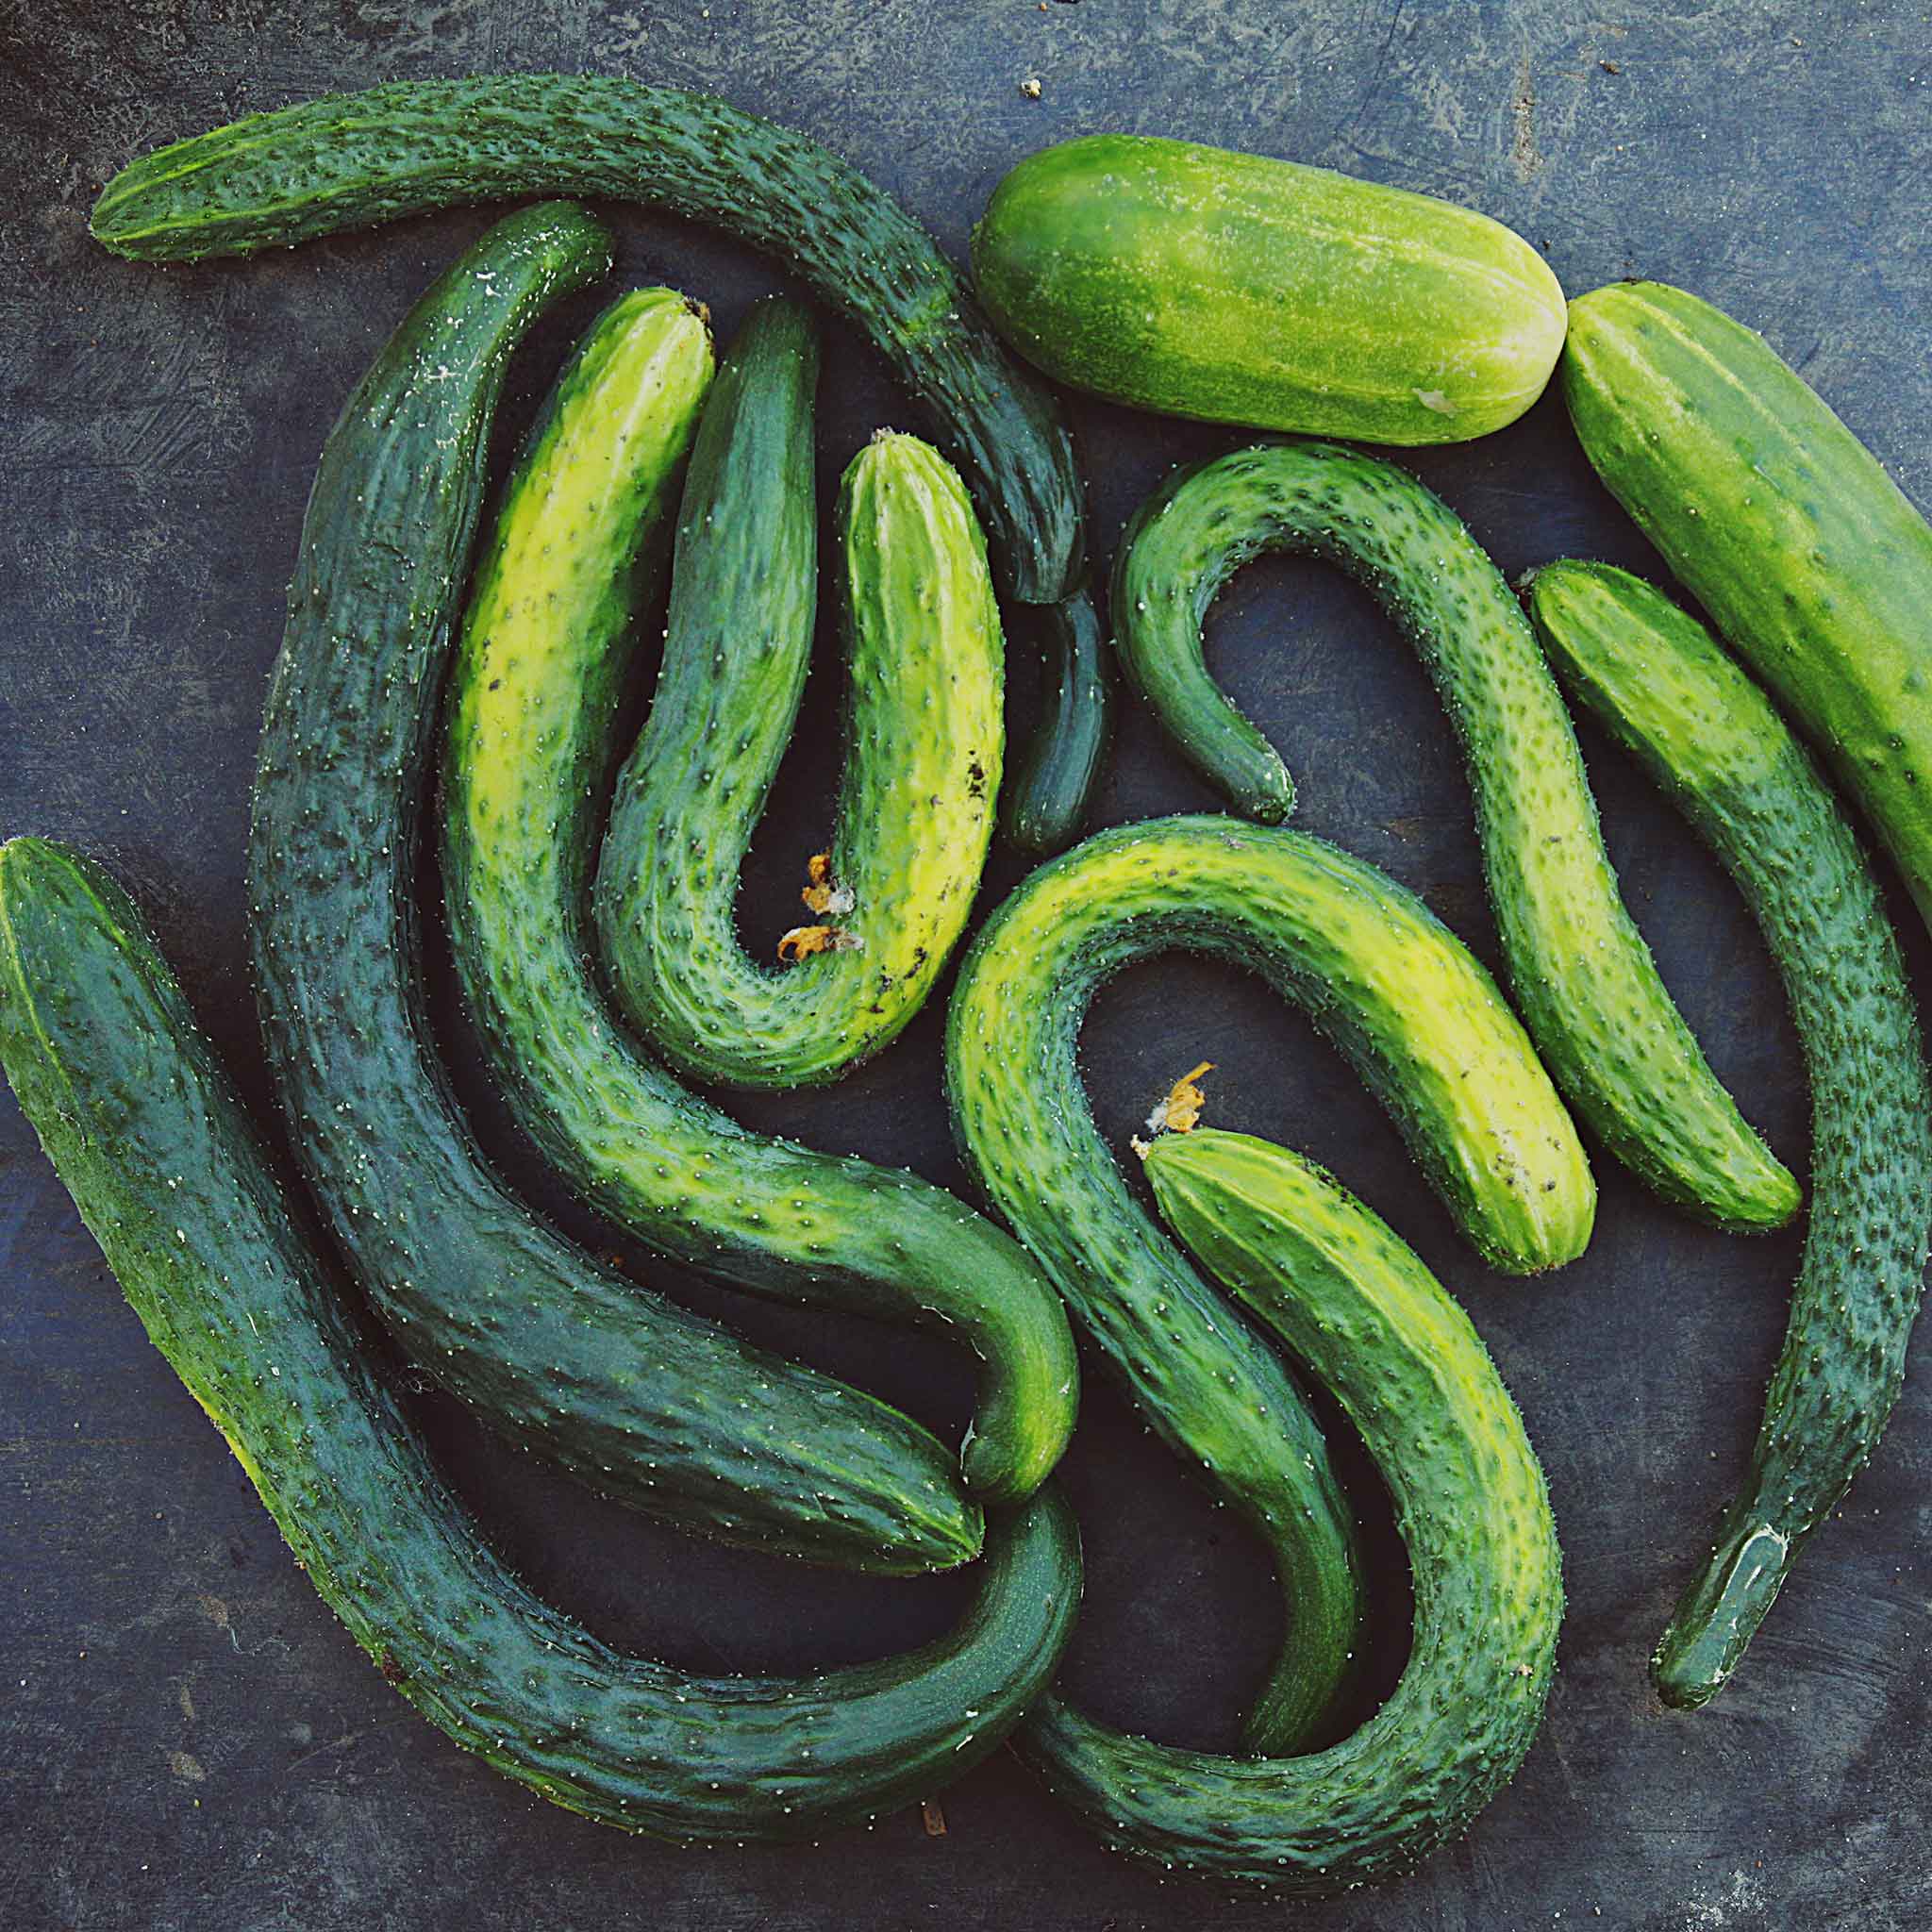
[[323,1600],[497,1770],[630,1832],[790,1839],[927,1797],[1051,1681],[1080,1596],[1051,1492],[991,1524],[952,1631],[854,1669],[697,1677],[533,1596],[371,1370],[139,914],[37,838],[0,846],[0,1066]]

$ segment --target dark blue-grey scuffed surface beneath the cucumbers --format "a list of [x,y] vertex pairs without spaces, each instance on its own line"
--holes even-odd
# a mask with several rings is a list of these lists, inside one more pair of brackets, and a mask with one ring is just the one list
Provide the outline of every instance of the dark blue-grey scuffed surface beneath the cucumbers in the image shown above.
[[[203,269],[108,259],[97,185],[153,143],[384,77],[591,68],[707,87],[821,135],[964,249],[999,174],[1097,128],[1329,162],[1519,226],[1573,292],[1685,282],[1766,330],[1932,502],[1932,27],[1913,6],[1656,6],[1578,25],[1551,0],[180,0],[0,8],[0,831],[106,852],[143,893],[253,1099],[242,970],[253,734],[307,475],[340,400],[413,296],[481,226],[410,222]],[[1039,99],[1020,83],[1039,79]],[[734,245],[614,211],[620,269],[668,278],[728,328],[775,272]],[[504,440],[570,332],[518,369]],[[902,402],[837,334],[827,481]],[[1076,408],[1099,545],[1175,460],[1231,437]],[[1654,564],[1544,404],[1416,468],[1505,570],[1561,553]],[[1217,661],[1302,781],[1300,823],[1424,891],[1493,964],[1468,798],[1416,665],[1310,566],[1238,580]],[[1014,707],[1030,715],[1030,674]],[[752,904],[788,902],[835,773],[821,678],[761,840]],[[1793,1161],[1804,1088],[1770,964],[1716,867],[1584,734],[1609,842],[1665,976],[1747,1111]],[[806,802],[813,802],[808,806]],[[1138,719],[1101,810],[1211,800]],[[989,891],[1018,875],[1005,858]],[[1903,900],[1899,900],[1903,906]],[[777,916],[777,914],[775,914]],[[1924,972],[1928,949],[1911,929]],[[446,1037],[491,1146],[560,1219]],[[831,1094],[746,1105],[800,1136],[958,1184],[937,1009]],[[0,1917],[19,1926],[1051,1926],[1134,1932],[1501,1932],[1932,1918],[1932,1379],[1920,1368],[1843,1520],[1750,1663],[1665,1718],[1644,1656],[1739,1472],[1795,1238],[1698,1231],[1602,1171],[1596,1242],[1561,1277],[1486,1275],[1399,1142],[1308,1026],[1233,972],[1142,968],[1101,1001],[1088,1080],[1107,1130],[1180,1068],[1221,1063],[1213,1117],[1312,1150],[1463,1294],[1548,1463],[1571,1617],[1549,1721],[1517,1783],[1414,1880],[1285,1909],[1159,1886],[1105,1857],[995,1758],[914,1816],[806,1851],[686,1853],[551,1810],[417,1721],[290,1565],[240,1468],[149,1349],[0,1097],[4,1731]],[[645,1269],[667,1279],[661,1267]],[[960,1364],[925,1341],[680,1283],[954,1428]],[[493,1532],[599,1631],[703,1667],[804,1669],[945,1625],[962,1584],[867,1584],[686,1546],[541,1480],[425,1399],[425,1426]],[[1246,1536],[1090,1379],[1066,1464],[1090,1553],[1070,1665],[1103,1714],[1217,1745],[1279,1636]],[[1399,1563],[1383,1575],[1401,1604]]]

